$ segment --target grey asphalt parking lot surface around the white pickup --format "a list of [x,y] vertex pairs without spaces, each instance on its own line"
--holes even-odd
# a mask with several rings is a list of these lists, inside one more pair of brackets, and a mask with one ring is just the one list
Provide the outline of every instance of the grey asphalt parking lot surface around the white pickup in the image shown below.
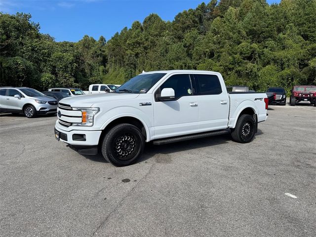
[[148,145],[115,167],[0,115],[0,236],[316,236],[316,107],[270,106],[253,142]]

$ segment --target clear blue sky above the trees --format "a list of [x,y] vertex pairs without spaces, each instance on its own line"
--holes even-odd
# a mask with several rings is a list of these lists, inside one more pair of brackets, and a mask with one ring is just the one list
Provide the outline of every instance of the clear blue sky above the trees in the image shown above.
[[[268,0],[268,3],[280,0]],[[135,20],[150,13],[172,21],[183,10],[196,8],[202,0],[0,0],[0,11],[32,14],[40,32],[56,41],[78,41],[84,35],[109,40]],[[206,0],[205,2],[208,2]]]

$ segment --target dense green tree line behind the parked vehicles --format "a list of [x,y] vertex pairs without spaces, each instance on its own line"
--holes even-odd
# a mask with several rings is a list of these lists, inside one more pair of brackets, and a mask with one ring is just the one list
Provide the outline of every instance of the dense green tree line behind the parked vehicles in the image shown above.
[[210,0],[173,21],[150,14],[110,40],[56,42],[31,15],[0,13],[0,86],[86,89],[145,71],[222,73],[228,85],[316,83],[316,0]]

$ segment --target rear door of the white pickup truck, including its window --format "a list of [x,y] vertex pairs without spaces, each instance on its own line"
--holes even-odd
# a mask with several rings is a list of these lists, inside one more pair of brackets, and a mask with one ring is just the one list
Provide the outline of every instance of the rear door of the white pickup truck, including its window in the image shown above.
[[229,97],[217,75],[194,74],[195,93],[198,95],[199,130],[227,128]]

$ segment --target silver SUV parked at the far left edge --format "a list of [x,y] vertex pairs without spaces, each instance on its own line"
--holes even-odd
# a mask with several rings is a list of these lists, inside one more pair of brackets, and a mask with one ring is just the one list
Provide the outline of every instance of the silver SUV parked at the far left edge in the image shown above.
[[24,113],[28,118],[56,114],[58,102],[29,87],[0,87],[0,112]]

